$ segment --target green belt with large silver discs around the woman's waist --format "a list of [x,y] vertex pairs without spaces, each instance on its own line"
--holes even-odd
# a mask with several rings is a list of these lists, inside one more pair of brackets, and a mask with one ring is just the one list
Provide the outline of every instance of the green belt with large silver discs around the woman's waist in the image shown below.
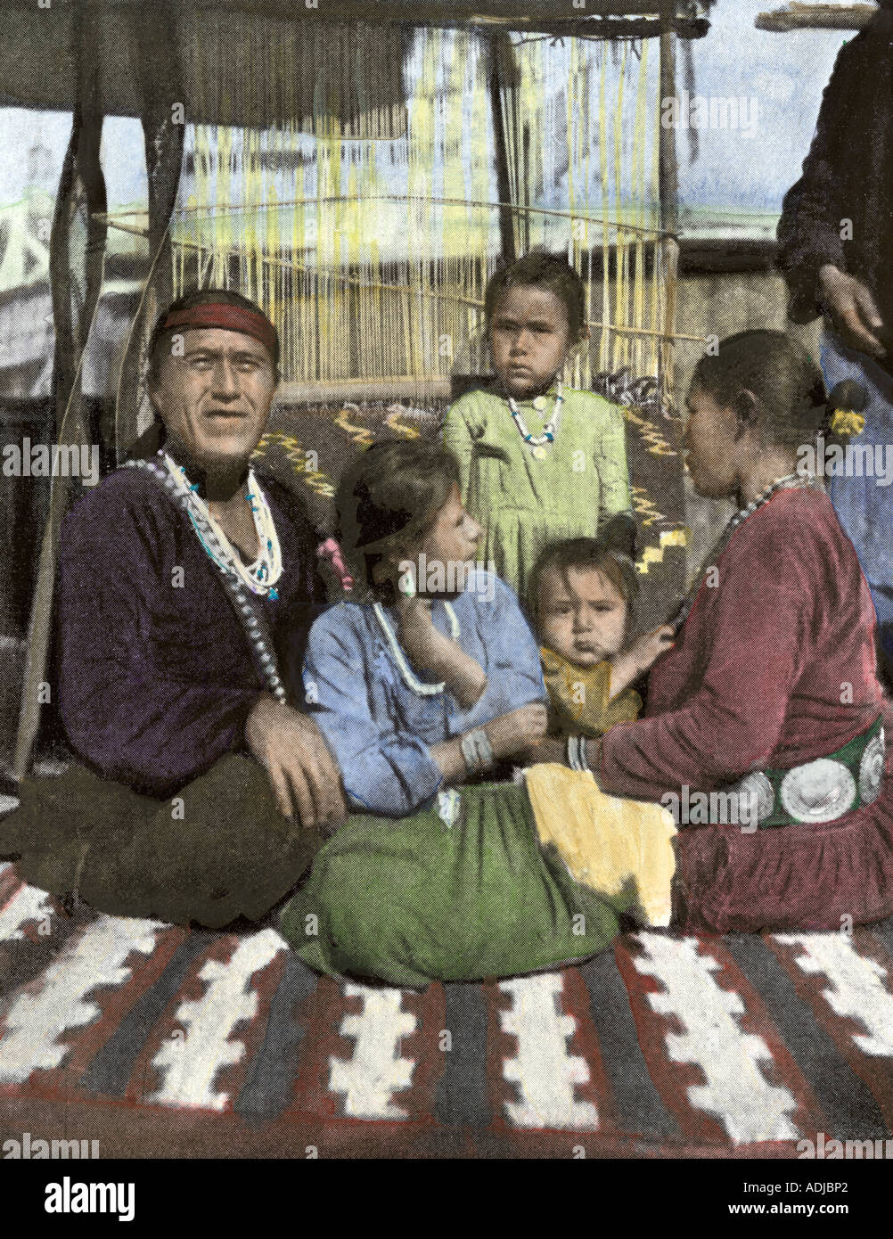
[[[739,820],[754,818],[758,829],[801,823],[835,821],[852,809],[871,804],[881,793],[884,772],[883,719],[850,740],[830,757],[794,766],[791,769],[754,771],[725,790],[749,799],[749,813],[739,809]],[[756,813],[754,813],[756,808]]]

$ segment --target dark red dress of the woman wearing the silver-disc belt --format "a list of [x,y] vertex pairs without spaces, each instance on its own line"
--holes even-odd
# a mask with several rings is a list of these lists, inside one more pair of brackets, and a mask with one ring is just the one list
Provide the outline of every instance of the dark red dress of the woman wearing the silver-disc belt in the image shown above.
[[[836,752],[893,712],[876,674],[876,620],[827,496],[778,491],[720,554],[637,722],[613,726],[603,790],[660,800]],[[834,821],[742,831],[682,825],[675,923],[691,930],[840,929],[893,913],[893,781]]]

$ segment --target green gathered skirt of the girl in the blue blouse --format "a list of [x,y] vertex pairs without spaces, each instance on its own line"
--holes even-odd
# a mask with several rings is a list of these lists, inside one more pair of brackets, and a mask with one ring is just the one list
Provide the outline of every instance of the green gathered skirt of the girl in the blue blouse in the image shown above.
[[396,821],[352,817],[336,831],[280,914],[305,963],[419,989],[604,949],[629,901],[592,893],[540,847],[526,790],[467,787],[461,805],[452,825],[433,807]]

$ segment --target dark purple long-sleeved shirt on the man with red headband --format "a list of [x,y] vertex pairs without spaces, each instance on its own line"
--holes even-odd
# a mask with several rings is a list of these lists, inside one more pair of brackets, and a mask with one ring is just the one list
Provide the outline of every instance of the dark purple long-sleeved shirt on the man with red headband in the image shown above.
[[[318,539],[294,496],[260,484],[282,558],[279,600],[260,606],[300,707],[307,633],[325,606]],[[74,752],[99,774],[163,797],[244,748],[266,685],[219,577],[187,513],[144,470],[119,470],[68,513],[59,705]]]

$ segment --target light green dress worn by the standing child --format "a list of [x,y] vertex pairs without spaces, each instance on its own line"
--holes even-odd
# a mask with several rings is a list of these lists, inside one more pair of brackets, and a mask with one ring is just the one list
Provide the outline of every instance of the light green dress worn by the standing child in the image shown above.
[[[534,436],[552,415],[520,400]],[[462,502],[483,525],[478,559],[524,600],[526,577],[546,543],[595,538],[599,525],[630,507],[623,410],[590,392],[564,388],[555,442],[538,458],[524,442],[508,401],[493,390],[469,392],[450,409],[443,444],[458,458]]]

